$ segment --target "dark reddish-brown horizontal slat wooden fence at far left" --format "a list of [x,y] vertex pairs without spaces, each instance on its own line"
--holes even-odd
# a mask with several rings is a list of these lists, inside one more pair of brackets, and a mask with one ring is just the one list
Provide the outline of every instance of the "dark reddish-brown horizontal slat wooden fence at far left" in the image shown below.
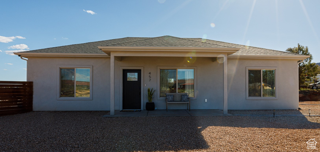
[[32,111],[33,82],[0,81],[0,116]]

